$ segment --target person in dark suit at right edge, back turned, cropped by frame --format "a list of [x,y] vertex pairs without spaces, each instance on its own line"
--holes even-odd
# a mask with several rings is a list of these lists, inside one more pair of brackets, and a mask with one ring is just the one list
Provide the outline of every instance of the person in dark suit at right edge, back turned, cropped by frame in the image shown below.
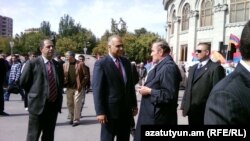
[[242,60],[212,90],[205,109],[205,124],[250,125],[250,21],[241,33]]

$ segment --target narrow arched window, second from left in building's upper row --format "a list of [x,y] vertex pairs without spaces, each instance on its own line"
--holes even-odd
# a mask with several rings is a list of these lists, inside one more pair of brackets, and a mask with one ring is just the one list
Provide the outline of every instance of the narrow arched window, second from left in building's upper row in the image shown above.
[[188,17],[188,14],[189,14],[189,11],[190,11],[190,5],[188,3],[186,3],[183,7],[183,10],[182,10],[182,26],[181,26],[181,30],[184,31],[184,30],[188,30],[189,28],[189,17]]

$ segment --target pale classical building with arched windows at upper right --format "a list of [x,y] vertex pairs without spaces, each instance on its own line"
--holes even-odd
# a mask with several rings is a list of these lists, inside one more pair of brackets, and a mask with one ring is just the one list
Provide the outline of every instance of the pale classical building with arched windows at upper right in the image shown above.
[[167,11],[166,40],[176,62],[192,61],[201,42],[233,59],[237,45],[230,41],[237,42],[249,20],[250,0],[163,0],[163,5]]

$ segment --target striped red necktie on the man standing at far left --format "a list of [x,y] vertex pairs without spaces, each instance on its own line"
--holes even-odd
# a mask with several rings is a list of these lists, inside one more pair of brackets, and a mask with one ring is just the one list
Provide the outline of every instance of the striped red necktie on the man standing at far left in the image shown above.
[[53,73],[52,63],[48,61],[48,80],[49,80],[49,101],[54,102],[57,98],[56,80]]

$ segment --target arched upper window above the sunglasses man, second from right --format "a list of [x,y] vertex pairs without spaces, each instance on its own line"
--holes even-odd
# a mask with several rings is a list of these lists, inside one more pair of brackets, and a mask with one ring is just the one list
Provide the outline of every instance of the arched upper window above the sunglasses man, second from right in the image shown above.
[[201,3],[200,24],[203,26],[211,26],[213,23],[213,0],[203,0]]

